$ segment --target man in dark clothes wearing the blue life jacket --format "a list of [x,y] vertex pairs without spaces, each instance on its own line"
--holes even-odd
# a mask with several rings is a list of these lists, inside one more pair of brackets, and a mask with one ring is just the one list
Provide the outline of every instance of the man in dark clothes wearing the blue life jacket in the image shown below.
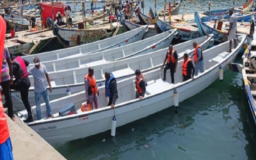
[[118,98],[117,84],[114,75],[108,71],[105,72],[105,96],[108,97],[108,106],[114,108]]

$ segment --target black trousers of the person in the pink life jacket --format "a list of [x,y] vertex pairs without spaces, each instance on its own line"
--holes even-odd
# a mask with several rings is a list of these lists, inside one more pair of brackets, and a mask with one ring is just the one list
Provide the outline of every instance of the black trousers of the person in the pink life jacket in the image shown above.
[[20,91],[21,100],[28,112],[28,116],[32,116],[31,106],[28,101],[28,89],[30,87],[30,81],[24,82],[22,79],[15,80],[10,86],[11,89]]

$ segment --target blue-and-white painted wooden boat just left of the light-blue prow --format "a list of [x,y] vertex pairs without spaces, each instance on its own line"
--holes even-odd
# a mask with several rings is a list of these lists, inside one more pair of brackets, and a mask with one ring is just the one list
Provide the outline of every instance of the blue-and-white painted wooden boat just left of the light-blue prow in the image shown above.
[[162,33],[162,32],[168,31],[170,29],[177,29],[178,35],[175,36],[176,39],[179,39],[182,41],[187,41],[187,40],[191,40],[191,39],[200,37],[198,29],[195,27],[192,27],[189,25],[187,25],[187,26],[169,25],[168,23],[155,17],[155,15],[153,14],[152,8],[149,9],[149,14],[152,17],[153,21],[155,21],[154,25],[156,27],[157,33]]

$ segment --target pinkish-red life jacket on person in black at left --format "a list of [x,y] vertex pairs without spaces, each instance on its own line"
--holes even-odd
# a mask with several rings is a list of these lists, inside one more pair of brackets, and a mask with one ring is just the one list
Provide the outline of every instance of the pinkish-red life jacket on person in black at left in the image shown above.
[[16,63],[19,66],[19,70],[16,72],[16,74],[14,74],[14,77],[16,79],[27,77],[28,76],[28,70],[27,70],[27,67],[26,67],[26,64],[25,64],[24,60],[20,56],[17,56],[13,60],[13,62]]

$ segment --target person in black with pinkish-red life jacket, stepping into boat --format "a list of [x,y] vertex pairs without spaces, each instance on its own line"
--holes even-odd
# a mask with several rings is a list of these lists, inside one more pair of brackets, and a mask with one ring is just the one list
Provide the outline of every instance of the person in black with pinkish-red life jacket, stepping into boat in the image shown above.
[[15,81],[10,85],[11,89],[20,91],[21,100],[28,112],[28,117],[23,120],[24,122],[33,122],[34,117],[32,115],[31,106],[28,101],[28,89],[30,87],[30,81],[28,78],[27,66],[29,62],[20,56],[16,57],[10,54],[12,60],[12,70],[15,77]]

